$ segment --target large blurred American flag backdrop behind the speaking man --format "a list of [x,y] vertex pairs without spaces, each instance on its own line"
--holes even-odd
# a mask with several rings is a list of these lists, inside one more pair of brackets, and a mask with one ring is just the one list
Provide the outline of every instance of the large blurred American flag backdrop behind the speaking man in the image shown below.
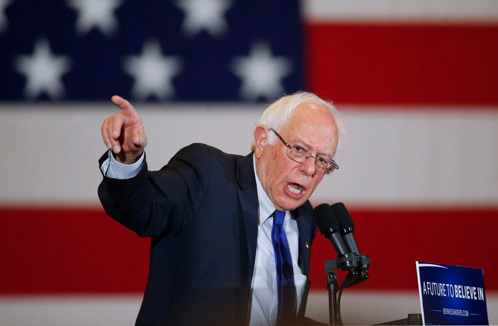
[[[0,325],[134,323],[150,241],[97,198],[112,95],[159,169],[192,142],[249,153],[266,104],[298,90],[348,128],[311,197],[345,203],[372,259],[343,322],[419,313],[420,260],[483,268],[496,325],[497,61],[495,0],[0,0]],[[307,315],[326,323],[336,254],[312,249]]]

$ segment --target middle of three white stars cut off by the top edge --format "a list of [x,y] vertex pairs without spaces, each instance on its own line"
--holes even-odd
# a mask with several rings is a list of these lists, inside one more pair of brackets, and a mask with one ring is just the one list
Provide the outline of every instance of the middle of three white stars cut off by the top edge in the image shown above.
[[86,34],[94,27],[106,36],[112,36],[118,30],[114,11],[123,4],[123,0],[67,0],[67,4],[78,11],[78,35]]

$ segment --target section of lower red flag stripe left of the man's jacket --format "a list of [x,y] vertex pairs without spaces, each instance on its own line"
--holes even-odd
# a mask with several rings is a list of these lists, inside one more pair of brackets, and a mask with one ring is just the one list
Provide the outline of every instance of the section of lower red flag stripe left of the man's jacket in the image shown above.
[[103,210],[0,209],[0,293],[143,292],[149,243]]

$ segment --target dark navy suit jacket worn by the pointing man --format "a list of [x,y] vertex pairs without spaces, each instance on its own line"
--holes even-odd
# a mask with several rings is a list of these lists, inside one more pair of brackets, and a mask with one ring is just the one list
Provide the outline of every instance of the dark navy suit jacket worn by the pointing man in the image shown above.
[[[110,217],[151,237],[137,325],[249,323],[258,226],[252,153],[192,144],[159,171],[147,171],[145,164],[131,179],[104,177],[99,198]],[[308,277],[296,320],[301,323],[316,224],[309,202],[291,216],[299,228],[299,265]]]

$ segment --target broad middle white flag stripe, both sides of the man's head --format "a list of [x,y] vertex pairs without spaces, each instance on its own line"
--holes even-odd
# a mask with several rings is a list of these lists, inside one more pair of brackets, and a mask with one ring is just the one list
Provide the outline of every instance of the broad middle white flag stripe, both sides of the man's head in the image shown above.
[[[181,147],[205,142],[248,154],[262,105],[141,104],[147,162],[161,168]],[[339,108],[348,138],[340,169],[312,202],[363,206],[497,206],[498,109]],[[100,126],[111,104],[1,105],[0,205],[100,205]],[[285,157],[284,157],[285,159]]]

